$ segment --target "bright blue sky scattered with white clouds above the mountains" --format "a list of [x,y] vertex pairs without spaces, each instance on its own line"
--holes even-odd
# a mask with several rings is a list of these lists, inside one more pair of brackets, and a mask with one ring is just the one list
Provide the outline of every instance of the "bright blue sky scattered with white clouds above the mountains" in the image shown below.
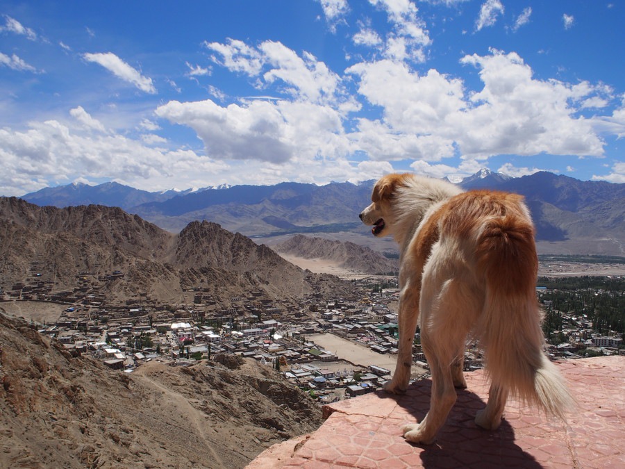
[[4,0],[0,195],[625,183],[624,20],[616,0]]

